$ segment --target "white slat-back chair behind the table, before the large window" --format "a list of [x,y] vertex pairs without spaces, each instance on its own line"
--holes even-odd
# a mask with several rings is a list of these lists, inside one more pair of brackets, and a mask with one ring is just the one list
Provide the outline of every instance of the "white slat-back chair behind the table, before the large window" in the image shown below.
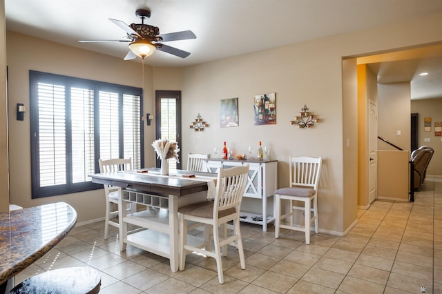
[[[119,170],[131,170],[132,159],[98,159],[99,172],[100,173],[115,173]],[[103,185],[104,194],[106,195],[106,217],[104,219],[104,239],[108,238],[109,225],[119,228],[119,223],[114,222],[111,218],[118,217],[118,198],[119,189],[116,186]],[[131,204],[126,205],[126,209],[131,211]]]

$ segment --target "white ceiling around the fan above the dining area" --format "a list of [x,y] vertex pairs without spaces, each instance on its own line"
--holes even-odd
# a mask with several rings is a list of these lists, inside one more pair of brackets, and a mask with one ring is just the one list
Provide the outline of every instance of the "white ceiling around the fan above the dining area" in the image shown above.
[[6,28],[123,59],[128,52],[127,43],[78,40],[122,39],[126,33],[108,19],[140,23],[135,17],[137,8],[151,10],[146,23],[159,27],[162,34],[192,30],[197,36],[166,43],[191,52],[186,59],[157,51],[146,59],[146,64],[190,66],[441,13],[442,1],[5,0]]

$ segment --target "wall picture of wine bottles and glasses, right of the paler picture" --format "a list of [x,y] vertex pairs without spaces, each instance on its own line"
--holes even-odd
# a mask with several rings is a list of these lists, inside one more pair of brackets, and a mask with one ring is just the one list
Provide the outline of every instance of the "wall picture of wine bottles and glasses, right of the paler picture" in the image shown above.
[[255,126],[276,124],[275,93],[255,95],[253,97],[253,111],[255,112]]

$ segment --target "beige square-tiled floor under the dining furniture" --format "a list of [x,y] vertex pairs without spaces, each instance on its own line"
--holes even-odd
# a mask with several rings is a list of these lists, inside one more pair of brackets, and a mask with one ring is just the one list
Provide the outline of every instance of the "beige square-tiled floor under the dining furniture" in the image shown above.
[[[441,198],[439,198],[441,197]],[[358,210],[345,237],[242,224],[247,269],[232,248],[223,257],[224,284],[214,259],[187,255],[186,270],[133,246],[119,252],[117,231],[106,241],[104,222],[73,229],[16,282],[50,269],[91,266],[102,274],[100,293],[442,293],[442,177],[427,176],[416,201],[377,200]],[[421,287],[424,287],[421,289]]]

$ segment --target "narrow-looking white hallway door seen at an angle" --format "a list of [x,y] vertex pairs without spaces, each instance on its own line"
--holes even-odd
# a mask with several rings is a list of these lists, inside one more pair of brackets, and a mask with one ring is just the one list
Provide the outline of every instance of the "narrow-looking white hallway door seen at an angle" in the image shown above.
[[374,101],[369,101],[368,115],[368,148],[369,148],[369,204],[376,199],[378,179],[378,116],[377,106]]

